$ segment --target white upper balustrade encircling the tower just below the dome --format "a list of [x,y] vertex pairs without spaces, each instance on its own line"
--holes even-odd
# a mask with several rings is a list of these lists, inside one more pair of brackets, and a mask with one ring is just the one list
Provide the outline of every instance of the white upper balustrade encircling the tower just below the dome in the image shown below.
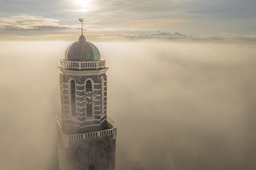
[[68,60],[60,60],[63,69],[102,69],[105,68],[105,60],[97,62],[73,62]]

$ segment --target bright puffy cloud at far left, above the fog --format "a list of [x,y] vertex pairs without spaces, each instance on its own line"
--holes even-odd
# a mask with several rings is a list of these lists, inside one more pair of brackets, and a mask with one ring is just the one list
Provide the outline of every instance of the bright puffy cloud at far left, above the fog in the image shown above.
[[68,30],[70,26],[61,25],[60,21],[42,16],[19,15],[10,18],[0,18],[0,30]]

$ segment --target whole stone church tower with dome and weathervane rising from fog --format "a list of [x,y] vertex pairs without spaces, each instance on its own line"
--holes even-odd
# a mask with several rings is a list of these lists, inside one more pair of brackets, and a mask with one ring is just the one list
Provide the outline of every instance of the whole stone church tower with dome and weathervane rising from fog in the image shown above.
[[107,117],[108,68],[81,30],[60,62],[60,170],[114,170],[117,129]]

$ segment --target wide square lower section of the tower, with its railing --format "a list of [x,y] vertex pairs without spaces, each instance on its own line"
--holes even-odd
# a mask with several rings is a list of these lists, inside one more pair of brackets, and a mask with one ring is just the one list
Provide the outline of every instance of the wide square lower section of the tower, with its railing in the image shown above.
[[116,128],[66,135],[57,125],[60,170],[114,170]]

